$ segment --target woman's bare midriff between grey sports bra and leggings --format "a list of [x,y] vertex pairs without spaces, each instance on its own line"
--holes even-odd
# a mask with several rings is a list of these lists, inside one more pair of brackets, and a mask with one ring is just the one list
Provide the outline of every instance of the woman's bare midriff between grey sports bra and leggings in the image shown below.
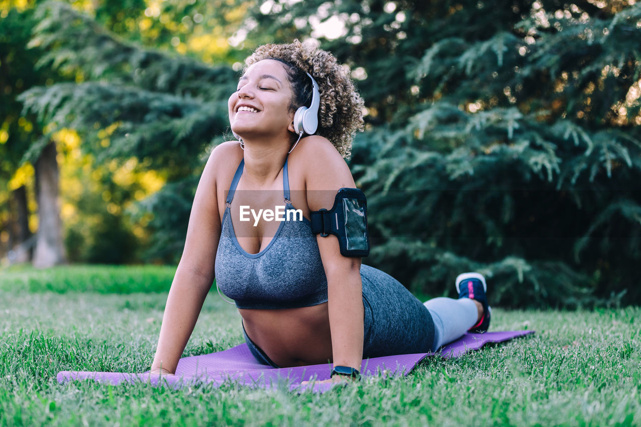
[[238,309],[249,338],[281,367],[331,361],[327,303],[276,310]]

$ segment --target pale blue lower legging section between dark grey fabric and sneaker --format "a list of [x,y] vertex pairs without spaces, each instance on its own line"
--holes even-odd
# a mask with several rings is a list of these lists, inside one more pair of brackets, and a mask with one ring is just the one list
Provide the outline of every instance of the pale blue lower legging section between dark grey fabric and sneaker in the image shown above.
[[472,328],[478,321],[476,303],[469,298],[438,297],[423,303],[434,321],[434,348],[452,342]]

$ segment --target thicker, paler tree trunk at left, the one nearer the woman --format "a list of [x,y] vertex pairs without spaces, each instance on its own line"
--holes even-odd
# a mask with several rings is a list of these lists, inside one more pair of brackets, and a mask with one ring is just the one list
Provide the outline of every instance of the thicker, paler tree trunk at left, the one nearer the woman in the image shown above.
[[58,162],[56,144],[42,150],[35,164],[36,192],[38,196],[38,237],[33,254],[37,268],[51,267],[65,262],[62,245],[62,224],[58,205]]

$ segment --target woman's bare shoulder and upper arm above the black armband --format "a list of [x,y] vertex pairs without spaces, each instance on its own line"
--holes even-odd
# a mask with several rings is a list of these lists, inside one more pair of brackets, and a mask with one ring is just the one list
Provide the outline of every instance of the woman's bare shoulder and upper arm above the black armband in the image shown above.
[[356,187],[347,163],[327,138],[312,135],[299,145],[297,157],[304,165],[307,204],[311,210],[331,208],[339,188]]

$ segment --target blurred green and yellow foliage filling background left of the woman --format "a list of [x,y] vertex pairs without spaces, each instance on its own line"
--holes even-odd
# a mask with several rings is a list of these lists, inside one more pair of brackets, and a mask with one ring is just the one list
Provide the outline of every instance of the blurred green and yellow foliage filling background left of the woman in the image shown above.
[[[229,26],[242,21],[246,6],[226,2],[221,8],[221,4],[136,0],[0,3],[3,18],[8,15],[3,19],[3,40],[15,51],[13,56],[26,62],[22,67],[26,72],[11,69],[16,76],[7,84],[22,90],[13,94],[8,110],[16,115],[16,123],[29,127],[22,132],[28,135],[22,144],[14,142],[20,133],[0,133],[0,140],[11,135],[13,142],[8,150],[12,161],[0,162],[6,170],[0,183],[10,178],[14,186],[25,181],[24,168],[17,167],[34,162],[42,147],[56,140],[69,260],[176,260],[175,251],[167,255],[169,247],[149,239],[150,230],[154,231],[152,237],[161,237],[164,242],[163,230],[172,233],[178,226],[181,231],[176,241],[180,245],[184,239],[180,226],[189,208],[179,211],[176,224],[163,222],[158,231],[153,227],[159,223],[157,219],[148,225],[154,214],[142,212],[136,203],[158,191],[167,180],[194,181],[202,168],[199,154],[203,144],[210,142],[210,135],[224,131],[226,102],[221,99],[233,90],[235,72],[229,66],[212,70],[176,54],[217,62],[238,60],[238,52],[224,34],[231,31]],[[12,25],[21,32],[14,31]],[[31,38],[33,31],[39,32]],[[140,49],[131,42],[152,49]],[[40,81],[21,83],[21,73],[32,73]],[[75,83],[65,83],[70,80]],[[87,80],[91,81],[84,83]],[[15,101],[15,96],[29,88],[31,99],[51,108],[56,117],[46,117],[44,112],[21,115],[22,103]],[[74,112],[81,112],[75,120]],[[133,117],[126,119],[129,116]],[[69,128],[77,135],[71,135]],[[26,176],[31,196],[33,169],[26,170],[32,171],[30,178]],[[8,188],[12,189],[11,185]],[[178,207],[190,205],[193,191],[189,187]],[[0,192],[0,196],[8,199],[9,194]],[[0,240],[5,243],[10,239],[4,229],[15,221],[12,210],[3,203]],[[37,206],[32,204],[29,210],[36,212]],[[31,230],[37,230],[35,214],[31,215]],[[2,249],[0,246],[0,252]]]

